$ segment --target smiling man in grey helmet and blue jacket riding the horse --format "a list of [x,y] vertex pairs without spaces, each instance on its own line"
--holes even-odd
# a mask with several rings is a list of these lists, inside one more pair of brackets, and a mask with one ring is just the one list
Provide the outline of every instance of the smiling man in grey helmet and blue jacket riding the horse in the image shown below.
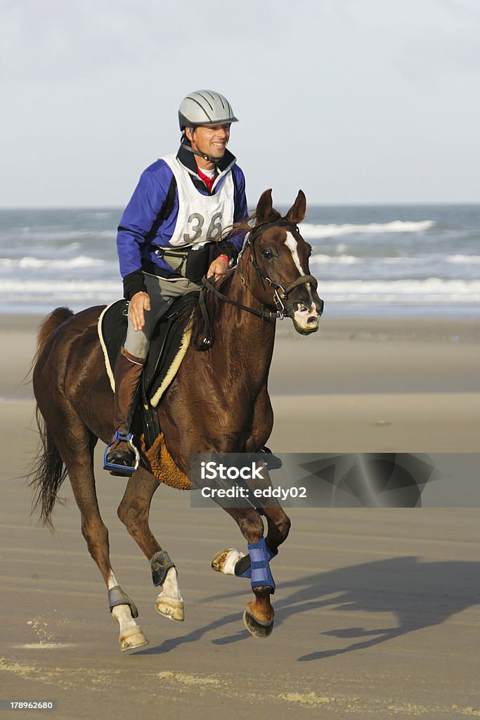
[[[137,453],[125,428],[158,319],[176,297],[217,279],[235,264],[243,235],[222,230],[248,215],[245,177],[227,150],[237,122],[215,91],[187,95],[178,109],[181,145],[140,176],[117,234],[124,297],[130,300],[127,338],[115,369],[115,433],[105,469],[132,474]],[[117,472],[115,472],[117,470]]]

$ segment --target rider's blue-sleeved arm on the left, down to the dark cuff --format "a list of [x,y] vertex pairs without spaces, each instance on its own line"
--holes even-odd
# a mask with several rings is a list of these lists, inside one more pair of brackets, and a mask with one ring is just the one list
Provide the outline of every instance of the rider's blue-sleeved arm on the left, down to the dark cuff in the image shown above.
[[124,210],[117,233],[120,273],[124,297],[146,292],[142,274],[141,246],[152,230],[171,183],[171,169],[163,161],[150,165],[140,176],[130,202]]

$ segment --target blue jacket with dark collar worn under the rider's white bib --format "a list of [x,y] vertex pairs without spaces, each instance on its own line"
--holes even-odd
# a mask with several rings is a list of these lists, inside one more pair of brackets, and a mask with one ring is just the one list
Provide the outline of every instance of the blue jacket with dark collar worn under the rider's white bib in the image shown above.
[[[209,191],[204,182],[196,175],[196,161],[193,153],[182,145],[177,153],[181,163],[194,172],[191,181],[201,194]],[[234,222],[244,220],[248,215],[245,197],[245,176],[235,162],[229,150],[225,151],[218,164],[222,173],[230,168],[234,185]],[[226,173],[225,173],[226,174]],[[217,192],[223,178],[214,188]],[[174,194],[173,194],[174,189]],[[170,212],[168,212],[170,210]],[[168,213],[168,217],[166,216]],[[117,250],[120,273],[124,279],[124,295],[130,299],[135,292],[145,290],[142,271],[175,277],[171,266],[155,253],[157,248],[171,247],[170,240],[175,229],[178,215],[178,189],[173,172],[163,160],[155,161],[140,176],[140,181],[124,210],[117,233]],[[243,245],[244,233],[232,235],[228,241],[219,243],[218,253],[225,253],[236,259]]]

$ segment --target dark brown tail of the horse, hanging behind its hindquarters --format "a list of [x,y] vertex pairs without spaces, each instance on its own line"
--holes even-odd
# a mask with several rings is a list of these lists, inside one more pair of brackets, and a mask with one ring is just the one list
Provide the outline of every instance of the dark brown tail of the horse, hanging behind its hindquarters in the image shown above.
[[[47,343],[50,335],[60,327],[65,320],[71,318],[73,312],[68,307],[57,307],[50,315],[47,315],[40,325],[37,336],[37,350],[32,362],[35,369],[40,354]],[[51,519],[52,510],[57,500],[57,492],[65,480],[67,470],[55,445],[52,433],[47,428],[45,420],[38,405],[35,406],[37,426],[40,432],[40,443],[33,463],[32,470],[28,474],[29,485],[34,488],[35,495],[32,503],[32,513],[40,505],[40,520],[43,525],[53,529]]]

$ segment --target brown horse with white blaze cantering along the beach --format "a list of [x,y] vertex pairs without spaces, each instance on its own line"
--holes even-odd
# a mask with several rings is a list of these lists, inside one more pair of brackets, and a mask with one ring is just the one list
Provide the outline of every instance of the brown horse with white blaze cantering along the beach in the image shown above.
[[[166,449],[176,469],[187,477],[191,453],[257,452],[268,440],[273,413],[267,380],[275,318],[288,316],[304,335],[317,330],[323,302],[316,292],[317,282],[309,274],[311,248],[296,227],[305,209],[305,196],[299,191],[289,212],[281,217],[272,207],[271,191],[264,192],[254,224],[245,225],[249,234],[235,270],[220,285],[213,289],[209,285],[212,292],[206,289],[204,303],[194,310],[193,340],[157,408]],[[97,334],[102,309],[90,307],[74,315],[60,307],[42,323],[33,370],[42,444],[31,477],[35,505],[41,506],[42,521],[52,526],[56,495],[68,473],[81,512],[82,534],[107,584],[123,650],[140,647],[147,640],[135,622],[135,603],[114,577],[108,531],[95,492],[94,447],[99,438],[109,441],[114,429],[114,395]],[[215,339],[199,352],[195,338],[204,338],[205,315],[212,318]],[[132,430],[135,433],[135,426]],[[118,516],[150,561],[154,584],[161,586],[158,611],[183,620],[176,568],[148,525],[150,501],[159,485],[151,469],[142,455],[139,469],[127,482]],[[257,582],[252,580],[255,599],[248,603],[244,621],[253,635],[266,636],[273,626],[270,595],[274,590],[268,560],[286,539],[290,521],[278,503],[261,510],[253,506],[226,509],[248,544],[255,546],[256,555],[254,550],[250,557],[225,550],[217,554],[212,567],[230,575],[236,567],[237,575],[242,571],[247,577],[254,575],[250,558],[253,567],[263,567],[256,571]],[[265,539],[261,515],[266,517]],[[259,544],[263,544],[261,551]],[[258,559],[263,562],[256,562]]]

